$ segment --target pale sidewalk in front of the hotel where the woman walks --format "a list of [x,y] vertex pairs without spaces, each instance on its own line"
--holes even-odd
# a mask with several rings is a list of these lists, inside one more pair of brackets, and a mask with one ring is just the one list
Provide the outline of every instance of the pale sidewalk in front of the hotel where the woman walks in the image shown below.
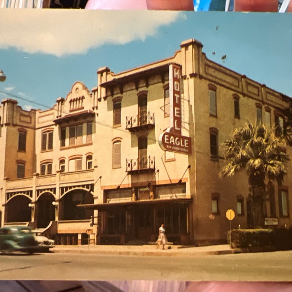
[[[168,249],[170,247],[170,249]],[[112,256],[203,256],[227,255],[240,252],[227,244],[208,246],[165,245],[165,250],[156,245],[57,245],[51,249],[55,253],[100,254]]]

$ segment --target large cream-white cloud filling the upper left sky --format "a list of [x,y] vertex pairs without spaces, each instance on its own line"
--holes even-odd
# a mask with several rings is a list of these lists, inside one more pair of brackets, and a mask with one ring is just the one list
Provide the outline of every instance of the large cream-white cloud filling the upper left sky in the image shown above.
[[176,11],[5,9],[0,11],[0,49],[56,56],[85,54],[105,43],[124,44],[154,36],[184,16]]

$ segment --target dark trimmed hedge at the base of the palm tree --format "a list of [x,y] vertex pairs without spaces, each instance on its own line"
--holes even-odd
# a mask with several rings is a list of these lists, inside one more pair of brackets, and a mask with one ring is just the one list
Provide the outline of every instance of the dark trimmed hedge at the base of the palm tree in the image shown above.
[[[230,232],[227,234],[230,244]],[[255,246],[274,246],[275,250],[292,249],[292,229],[233,229],[231,230],[231,248]]]

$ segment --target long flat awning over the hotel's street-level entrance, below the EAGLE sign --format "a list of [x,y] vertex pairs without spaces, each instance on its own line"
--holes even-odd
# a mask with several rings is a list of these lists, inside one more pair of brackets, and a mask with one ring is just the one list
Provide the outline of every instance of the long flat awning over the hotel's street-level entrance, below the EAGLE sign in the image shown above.
[[128,201],[128,202],[114,202],[114,203],[101,203],[101,204],[79,204],[77,207],[82,207],[91,210],[106,210],[112,207],[121,206],[138,206],[138,205],[155,205],[155,204],[189,204],[193,199],[156,199],[156,200],[143,200],[143,201]]

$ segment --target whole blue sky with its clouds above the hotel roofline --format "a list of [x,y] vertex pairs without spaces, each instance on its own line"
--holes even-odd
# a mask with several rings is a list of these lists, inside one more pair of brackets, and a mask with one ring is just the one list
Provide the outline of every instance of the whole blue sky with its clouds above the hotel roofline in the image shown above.
[[0,91],[16,96],[0,100],[25,109],[52,107],[76,81],[91,89],[100,67],[118,73],[172,56],[189,38],[209,59],[292,96],[292,14],[24,9],[0,11],[0,26]]

